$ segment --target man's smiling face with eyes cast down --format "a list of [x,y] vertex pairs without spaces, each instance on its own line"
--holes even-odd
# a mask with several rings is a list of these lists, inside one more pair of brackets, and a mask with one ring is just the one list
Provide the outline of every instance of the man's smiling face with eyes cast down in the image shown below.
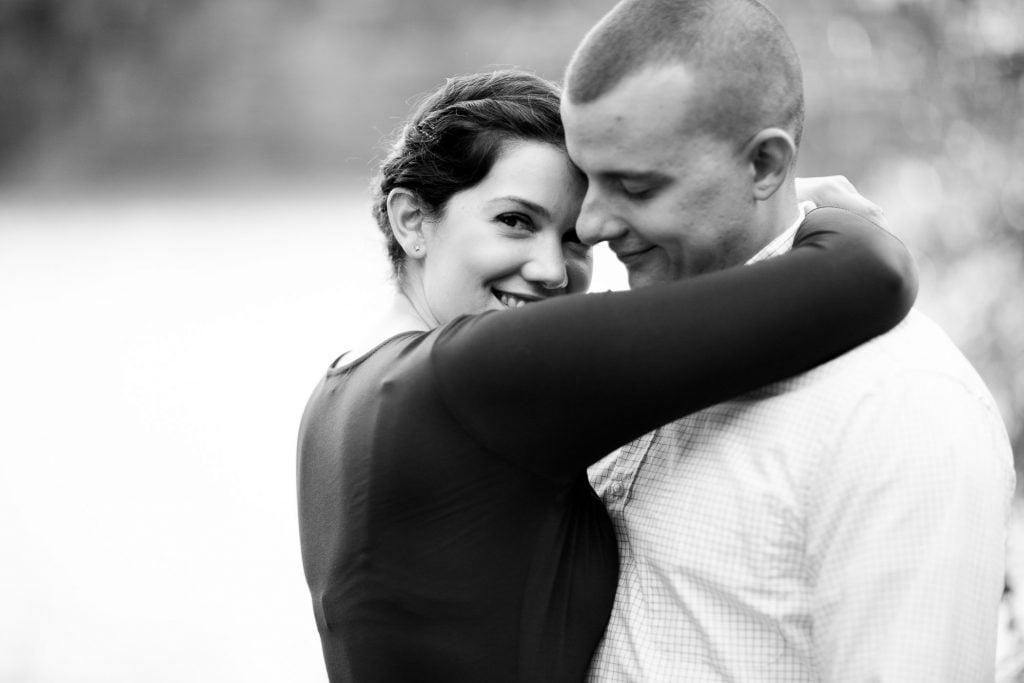
[[563,100],[569,156],[588,180],[577,231],[608,242],[630,287],[739,264],[761,246],[753,165],[699,123],[707,106],[683,66],[641,71],[586,104]]

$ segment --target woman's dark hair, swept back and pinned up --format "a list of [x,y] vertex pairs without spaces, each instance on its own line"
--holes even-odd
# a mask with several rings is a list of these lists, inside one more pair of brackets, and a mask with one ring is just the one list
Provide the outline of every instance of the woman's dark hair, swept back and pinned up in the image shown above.
[[486,177],[508,142],[532,140],[564,150],[559,101],[554,83],[506,70],[450,78],[420,103],[372,186],[374,218],[395,275],[401,278],[406,253],[388,220],[388,194],[410,189],[426,214],[438,218],[453,195]]

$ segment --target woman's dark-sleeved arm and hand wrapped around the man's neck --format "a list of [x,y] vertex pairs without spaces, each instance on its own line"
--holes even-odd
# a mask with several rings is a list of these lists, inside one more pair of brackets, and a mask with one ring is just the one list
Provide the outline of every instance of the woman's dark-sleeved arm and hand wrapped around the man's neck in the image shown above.
[[476,440],[562,478],[658,425],[891,329],[915,293],[895,238],[818,209],[786,255],[462,317],[439,331],[431,360],[449,409]]

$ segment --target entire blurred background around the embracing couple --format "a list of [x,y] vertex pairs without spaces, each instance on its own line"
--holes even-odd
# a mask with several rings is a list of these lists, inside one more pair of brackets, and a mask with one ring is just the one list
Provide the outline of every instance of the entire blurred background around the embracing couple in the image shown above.
[[[0,681],[326,680],[295,435],[388,294],[375,162],[444,76],[557,80],[612,4],[0,0]],[[805,68],[801,175],[885,207],[1020,472],[1024,3],[767,4]]]

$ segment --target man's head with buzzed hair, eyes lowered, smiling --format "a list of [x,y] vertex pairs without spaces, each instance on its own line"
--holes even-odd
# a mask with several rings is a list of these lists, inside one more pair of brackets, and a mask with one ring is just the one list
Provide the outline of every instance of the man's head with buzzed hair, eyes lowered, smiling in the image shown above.
[[742,263],[796,216],[803,111],[796,50],[755,0],[624,0],[566,72],[581,238],[633,287]]

